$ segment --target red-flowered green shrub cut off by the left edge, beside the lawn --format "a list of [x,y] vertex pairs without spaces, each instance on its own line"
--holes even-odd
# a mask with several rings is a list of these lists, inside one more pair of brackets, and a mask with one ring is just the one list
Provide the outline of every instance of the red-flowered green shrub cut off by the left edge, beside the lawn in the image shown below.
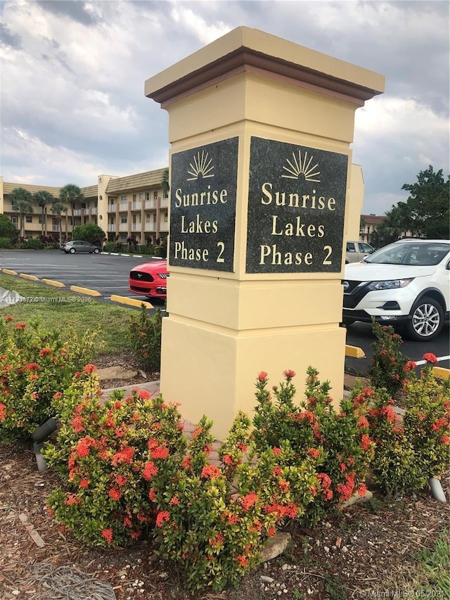
[[38,321],[0,320],[0,440],[32,433],[51,414],[51,399],[98,351],[98,332],[66,339]]

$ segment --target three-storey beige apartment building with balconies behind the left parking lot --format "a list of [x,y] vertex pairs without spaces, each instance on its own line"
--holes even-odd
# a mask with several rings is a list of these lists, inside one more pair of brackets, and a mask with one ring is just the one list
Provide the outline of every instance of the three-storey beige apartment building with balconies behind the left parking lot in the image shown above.
[[[105,231],[108,241],[125,243],[128,238],[137,243],[163,241],[169,233],[169,193],[162,188],[165,169],[148,171],[127,177],[99,175],[97,184],[82,187],[83,198],[61,213],[63,237],[70,239],[73,228],[94,223]],[[20,215],[13,210],[11,192],[22,187],[32,194],[40,190],[58,198],[60,188],[11,183],[0,177],[0,213],[11,219],[19,229]],[[25,237],[59,235],[59,217],[36,205],[24,218]]]

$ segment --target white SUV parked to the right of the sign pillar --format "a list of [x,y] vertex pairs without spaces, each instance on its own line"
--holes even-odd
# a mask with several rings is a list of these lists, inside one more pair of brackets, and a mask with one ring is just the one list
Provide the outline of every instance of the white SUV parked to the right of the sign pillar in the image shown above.
[[449,317],[450,241],[405,239],[345,265],[342,321],[398,324],[432,340]]

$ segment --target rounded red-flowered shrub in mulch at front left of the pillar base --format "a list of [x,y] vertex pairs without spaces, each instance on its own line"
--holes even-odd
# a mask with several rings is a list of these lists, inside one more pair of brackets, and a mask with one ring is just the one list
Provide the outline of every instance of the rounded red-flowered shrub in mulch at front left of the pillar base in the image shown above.
[[[146,390],[101,402],[95,367],[87,365],[55,408],[61,423],[56,444],[43,454],[65,480],[48,506],[56,520],[90,545],[123,547],[153,528],[148,481],[168,454],[183,454],[176,407],[150,400]],[[177,451],[177,452],[176,452]],[[168,461],[169,462],[169,461]]]

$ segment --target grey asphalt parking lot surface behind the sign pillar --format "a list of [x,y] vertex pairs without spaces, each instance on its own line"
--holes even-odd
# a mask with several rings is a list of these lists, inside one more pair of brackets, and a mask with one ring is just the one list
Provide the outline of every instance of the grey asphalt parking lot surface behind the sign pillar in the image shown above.
[[[13,250],[0,252],[0,269],[11,269],[17,273],[36,276],[38,279],[60,281],[70,290],[79,286],[98,291],[94,297],[99,302],[110,302],[112,295],[148,302],[148,298],[129,292],[128,276],[132,267],[148,262],[148,257],[115,254],[65,254],[39,250]],[[13,285],[13,284],[11,284]],[[44,285],[44,284],[42,284]],[[165,302],[152,300],[156,308],[165,309]],[[132,307],[130,307],[132,309]],[[366,353],[364,359],[346,359],[346,366],[356,373],[364,374],[372,356],[371,344],[375,338],[370,324],[356,323],[347,329],[347,344],[361,347]],[[420,361],[425,352],[432,352],[439,358],[439,366],[450,367],[449,323],[446,322],[440,335],[429,343],[404,340],[401,351],[411,360]]]

